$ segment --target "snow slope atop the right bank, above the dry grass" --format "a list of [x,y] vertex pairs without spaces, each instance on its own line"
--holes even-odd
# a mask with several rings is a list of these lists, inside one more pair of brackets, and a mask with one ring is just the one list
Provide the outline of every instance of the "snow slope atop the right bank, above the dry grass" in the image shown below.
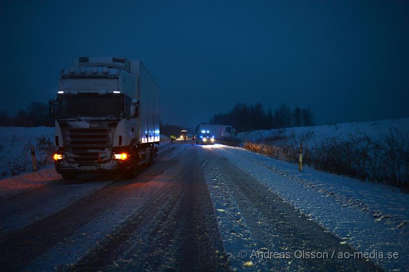
[[[353,122],[353,123],[340,123],[335,125],[323,125],[312,127],[290,127],[284,129],[270,129],[270,130],[255,130],[240,132],[237,134],[238,139],[241,141],[260,141],[270,137],[276,133],[283,133],[289,137],[295,135],[304,137],[304,135],[311,135],[307,138],[308,142],[319,142],[321,140],[335,137],[338,139],[348,139],[350,136],[359,136],[366,134],[371,138],[377,140],[385,133],[390,133],[390,129],[393,131],[398,130],[403,133],[409,133],[409,118],[399,118],[391,120],[379,120],[372,122]],[[307,142],[307,143],[308,143]]]

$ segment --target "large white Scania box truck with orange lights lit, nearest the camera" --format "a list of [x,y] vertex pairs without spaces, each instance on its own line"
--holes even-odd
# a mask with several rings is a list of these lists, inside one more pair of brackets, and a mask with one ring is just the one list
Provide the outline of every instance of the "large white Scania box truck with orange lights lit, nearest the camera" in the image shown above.
[[117,171],[134,178],[156,161],[160,88],[140,60],[81,57],[60,71],[55,169],[63,178]]

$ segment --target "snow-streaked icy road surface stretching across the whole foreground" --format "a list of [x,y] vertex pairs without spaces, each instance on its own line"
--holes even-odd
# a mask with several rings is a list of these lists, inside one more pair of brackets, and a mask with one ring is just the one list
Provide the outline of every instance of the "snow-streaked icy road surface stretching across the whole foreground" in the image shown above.
[[[405,194],[293,169],[296,166],[240,148],[177,141],[161,145],[157,163],[142,168],[134,180],[87,175],[64,181],[53,169],[44,169],[39,176],[56,178],[18,194],[22,176],[8,178],[6,187],[0,180],[0,190],[13,192],[0,194],[0,267],[13,271],[409,267],[405,224],[396,225],[407,218]],[[38,178],[35,175],[29,177]],[[357,183],[359,193],[346,195],[350,185],[332,188],[342,182]],[[368,196],[371,188],[390,194],[391,202],[400,201],[391,204],[395,210]],[[384,257],[396,252],[399,257],[353,257],[372,251]]]

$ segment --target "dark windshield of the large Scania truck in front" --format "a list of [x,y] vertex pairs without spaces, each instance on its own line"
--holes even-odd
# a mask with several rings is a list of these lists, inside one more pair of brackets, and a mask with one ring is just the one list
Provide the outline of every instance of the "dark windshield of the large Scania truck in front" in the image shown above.
[[122,94],[78,94],[58,99],[57,119],[121,119],[123,116]]

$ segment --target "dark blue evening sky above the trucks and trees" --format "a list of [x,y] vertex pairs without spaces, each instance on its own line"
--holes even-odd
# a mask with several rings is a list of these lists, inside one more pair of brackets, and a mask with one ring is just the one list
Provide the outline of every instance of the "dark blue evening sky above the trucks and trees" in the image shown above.
[[316,123],[408,117],[408,1],[2,1],[0,107],[56,96],[80,56],[141,59],[162,120],[237,102],[311,107]]

